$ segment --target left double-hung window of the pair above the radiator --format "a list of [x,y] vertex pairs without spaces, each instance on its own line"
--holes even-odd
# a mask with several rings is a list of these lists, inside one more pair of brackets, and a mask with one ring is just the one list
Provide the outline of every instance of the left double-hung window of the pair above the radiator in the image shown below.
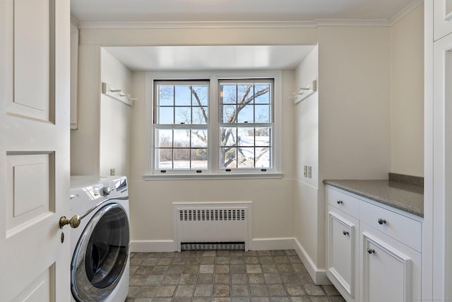
[[209,83],[155,81],[155,168],[208,170]]

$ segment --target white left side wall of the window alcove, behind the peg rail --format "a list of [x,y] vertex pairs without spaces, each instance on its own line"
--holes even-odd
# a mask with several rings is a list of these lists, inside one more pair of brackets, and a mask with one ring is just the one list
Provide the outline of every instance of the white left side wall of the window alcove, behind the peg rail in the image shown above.
[[[101,51],[101,62],[101,81],[129,93],[131,71],[105,49]],[[130,130],[131,107],[100,95],[100,175],[110,175],[114,168],[116,175],[129,176]]]

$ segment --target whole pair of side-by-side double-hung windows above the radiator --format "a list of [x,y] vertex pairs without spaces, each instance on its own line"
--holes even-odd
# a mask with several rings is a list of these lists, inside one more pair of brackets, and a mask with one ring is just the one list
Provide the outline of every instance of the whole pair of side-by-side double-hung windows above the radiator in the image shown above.
[[278,174],[275,79],[199,79],[152,79],[152,174]]

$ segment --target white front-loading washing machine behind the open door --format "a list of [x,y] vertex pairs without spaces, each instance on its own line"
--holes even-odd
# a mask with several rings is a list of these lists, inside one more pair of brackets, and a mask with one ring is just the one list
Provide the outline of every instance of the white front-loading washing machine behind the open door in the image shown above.
[[71,177],[71,292],[77,302],[124,302],[129,293],[129,192],[124,176]]

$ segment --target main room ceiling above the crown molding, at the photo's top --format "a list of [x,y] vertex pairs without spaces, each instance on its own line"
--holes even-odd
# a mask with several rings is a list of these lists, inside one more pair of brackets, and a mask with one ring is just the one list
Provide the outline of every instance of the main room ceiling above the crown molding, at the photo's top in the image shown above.
[[78,22],[390,20],[413,0],[71,0]]

